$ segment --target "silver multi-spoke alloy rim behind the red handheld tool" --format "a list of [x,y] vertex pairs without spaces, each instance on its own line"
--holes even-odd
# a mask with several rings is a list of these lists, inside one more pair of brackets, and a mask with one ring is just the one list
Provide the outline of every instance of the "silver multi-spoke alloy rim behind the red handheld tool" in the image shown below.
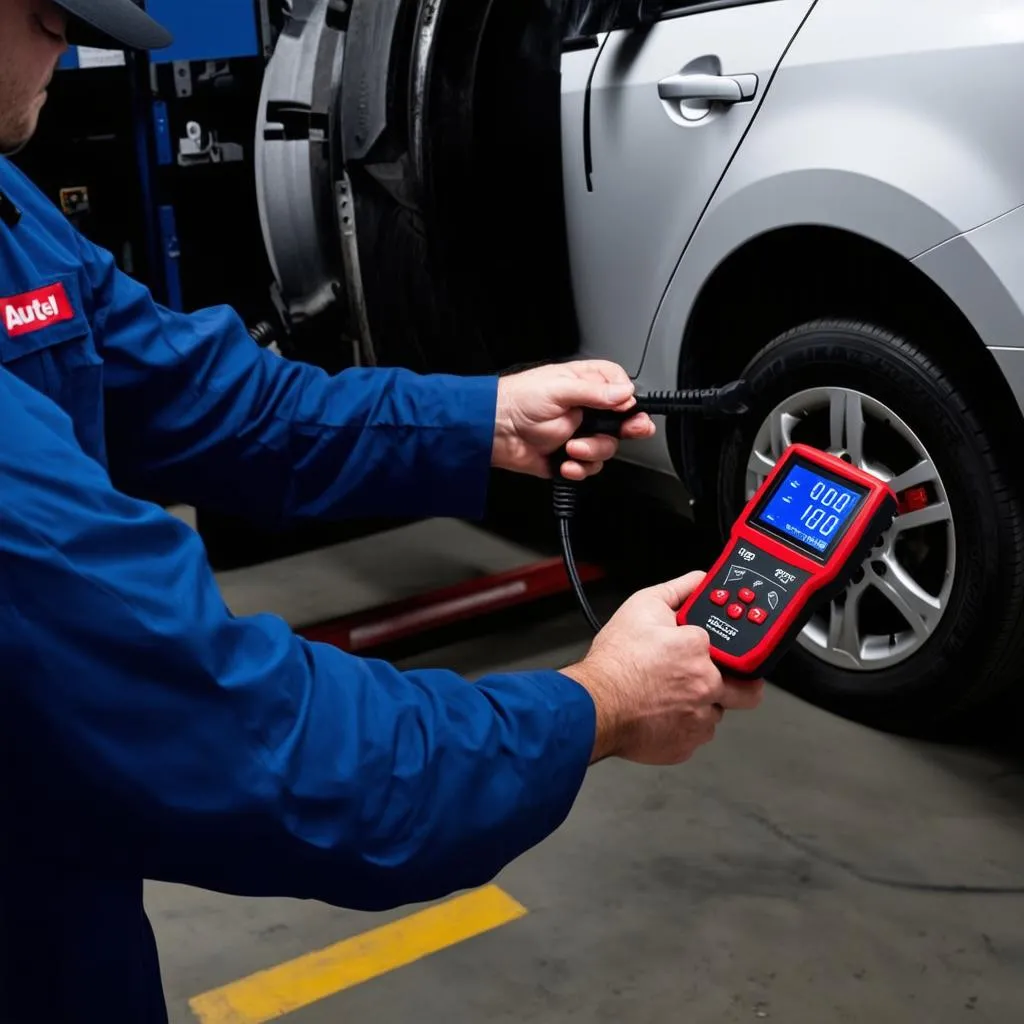
[[882,402],[848,388],[812,388],[786,398],[762,423],[748,463],[748,499],[801,440],[889,481],[901,510],[855,581],[808,623],[799,643],[847,670],[904,662],[935,632],[953,583],[955,531],[935,462]]

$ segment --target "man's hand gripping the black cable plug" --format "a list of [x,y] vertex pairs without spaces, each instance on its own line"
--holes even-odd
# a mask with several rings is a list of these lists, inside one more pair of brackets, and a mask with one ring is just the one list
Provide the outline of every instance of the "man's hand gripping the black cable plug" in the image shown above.
[[[503,377],[492,464],[531,476],[550,476],[548,457],[572,437],[583,409],[625,412],[636,403],[626,371],[603,359],[581,359],[537,367]],[[623,424],[624,438],[650,437],[654,423],[639,413]],[[582,480],[601,471],[618,451],[618,439],[599,435],[569,441],[562,475]]]

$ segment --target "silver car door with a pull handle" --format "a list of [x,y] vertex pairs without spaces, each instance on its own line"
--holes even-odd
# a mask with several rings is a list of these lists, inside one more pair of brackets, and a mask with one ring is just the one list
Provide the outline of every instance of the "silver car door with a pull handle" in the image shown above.
[[815,2],[662,0],[652,24],[600,39],[585,102],[581,76],[566,76],[566,226],[588,353],[639,371],[669,280]]

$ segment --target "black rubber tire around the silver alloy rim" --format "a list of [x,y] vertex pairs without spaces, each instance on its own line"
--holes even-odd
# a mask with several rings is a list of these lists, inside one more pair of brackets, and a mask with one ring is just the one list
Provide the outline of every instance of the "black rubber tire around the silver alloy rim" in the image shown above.
[[939,471],[955,528],[942,617],[902,663],[845,670],[794,647],[773,679],[817,706],[908,735],[955,734],[1021,675],[1024,502],[981,403],[969,400],[969,382],[957,383],[956,370],[868,324],[816,321],[788,331],[744,370],[754,409],[724,439],[717,487],[724,537],[744,503],[745,467],[760,425],[806,388],[860,391],[920,438]]

